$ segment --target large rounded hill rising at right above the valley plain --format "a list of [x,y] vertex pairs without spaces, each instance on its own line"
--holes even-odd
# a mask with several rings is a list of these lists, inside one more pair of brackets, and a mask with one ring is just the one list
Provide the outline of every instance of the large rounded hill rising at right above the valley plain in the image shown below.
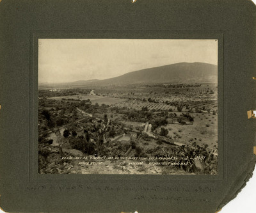
[[218,67],[209,63],[175,63],[146,68],[98,81],[100,84],[202,83],[218,81]]

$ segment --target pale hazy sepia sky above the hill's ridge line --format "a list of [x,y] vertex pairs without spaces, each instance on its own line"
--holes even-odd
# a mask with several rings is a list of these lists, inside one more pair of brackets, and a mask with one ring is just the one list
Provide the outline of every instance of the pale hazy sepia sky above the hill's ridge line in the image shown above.
[[179,62],[218,65],[216,40],[39,39],[38,82],[108,79]]

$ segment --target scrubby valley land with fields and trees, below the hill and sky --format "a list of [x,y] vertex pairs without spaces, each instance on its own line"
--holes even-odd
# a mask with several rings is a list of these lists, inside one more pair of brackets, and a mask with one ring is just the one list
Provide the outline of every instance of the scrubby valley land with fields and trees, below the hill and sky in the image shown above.
[[[38,102],[39,173],[218,173],[216,85],[47,89],[39,90]],[[61,161],[68,156],[108,159],[96,158],[88,162],[90,165]],[[177,161],[189,160],[186,166],[172,167],[158,166],[163,163],[160,160],[149,161],[170,156]],[[196,156],[206,159],[193,160]],[[142,158],[143,165],[124,162],[125,157]]]

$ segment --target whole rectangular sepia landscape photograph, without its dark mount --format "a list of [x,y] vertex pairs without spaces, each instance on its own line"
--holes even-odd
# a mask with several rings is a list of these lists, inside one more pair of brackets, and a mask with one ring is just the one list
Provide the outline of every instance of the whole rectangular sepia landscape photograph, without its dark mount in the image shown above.
[[38,173],[218,174],[218,40],[38,39]]

